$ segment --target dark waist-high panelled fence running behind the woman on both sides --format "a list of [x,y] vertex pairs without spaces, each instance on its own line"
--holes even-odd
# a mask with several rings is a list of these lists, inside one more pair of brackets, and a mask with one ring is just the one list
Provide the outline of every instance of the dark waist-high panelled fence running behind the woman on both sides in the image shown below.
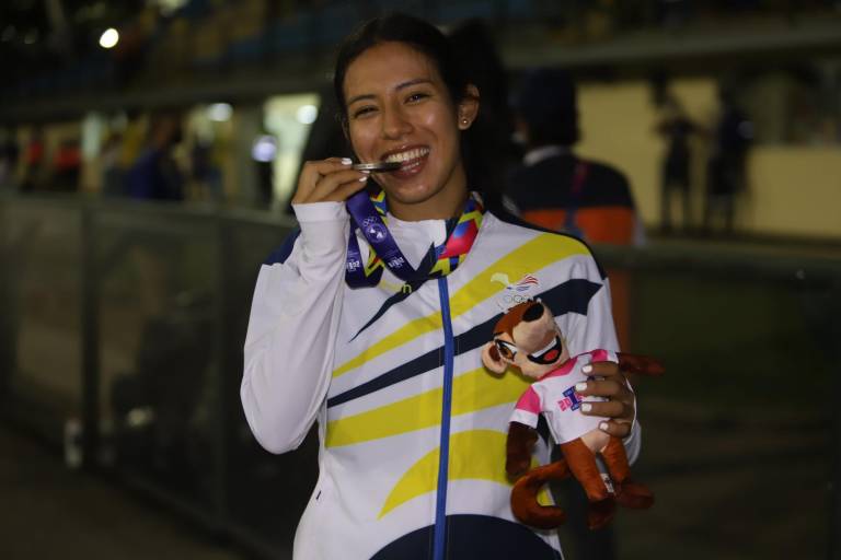
[[[265,214],[0,198],[0,418],[264,558],[290,556],[316,442],[273,456],[239,401]],[[626,277],[657,493],[619,558],[841,558],[841,261],[784,247],[597,247]],[[573,550],[580,539],[562,537]]]

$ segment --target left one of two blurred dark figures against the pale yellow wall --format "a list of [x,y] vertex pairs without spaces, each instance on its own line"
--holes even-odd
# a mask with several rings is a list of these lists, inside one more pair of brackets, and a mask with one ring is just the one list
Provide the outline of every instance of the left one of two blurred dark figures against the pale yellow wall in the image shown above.
[[663,160],[660,177],[660,226],[664,233],[671,231],[671,199],[677,195],[681,202],[686,231],[691,223],[691,180],[690,167],[692,153],[689,141],[698,127],[687,116],[680,101],[667,93],[663,103],[663,116],[657,125],[657,132],[666,140],[666,154]]

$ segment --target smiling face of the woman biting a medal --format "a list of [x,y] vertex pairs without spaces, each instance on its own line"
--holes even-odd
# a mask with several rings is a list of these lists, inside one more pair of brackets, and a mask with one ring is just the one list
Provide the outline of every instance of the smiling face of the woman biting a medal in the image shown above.
[[395,172],[376,175],[394,215],[423,220],[457,214],[466,195],[460,129],[475,117],[477,100],[457,107],[436,65],[396,42],[357,57],[344,89],[348,136],[359,161],[402,163]]

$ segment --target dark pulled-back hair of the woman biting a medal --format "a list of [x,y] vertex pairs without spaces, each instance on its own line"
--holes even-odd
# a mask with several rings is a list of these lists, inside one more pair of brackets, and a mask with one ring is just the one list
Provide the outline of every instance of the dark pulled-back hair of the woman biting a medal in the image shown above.
[[468,83],[449,39],[437,27],[424,20],[403,13],[393,13],[367,22],[356,33],[347,37],[338,49],[336,71],[333,74],[333,88],[342,126],[347,126],[344,85],[348,67],[369,48],[389,42],[404,43],[429,57],[429,60],[438,68],[438,73],[441,75],[453,104],[458,104],[464,98]]

